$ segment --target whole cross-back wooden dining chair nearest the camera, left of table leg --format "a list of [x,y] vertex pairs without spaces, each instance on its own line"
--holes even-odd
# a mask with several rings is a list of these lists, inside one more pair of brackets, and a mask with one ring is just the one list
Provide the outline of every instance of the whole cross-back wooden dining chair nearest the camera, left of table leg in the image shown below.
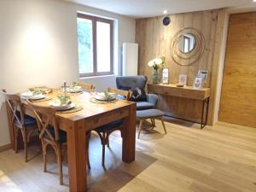
[[37,106],[31,101],[27,102],[32,108],[38,122],[38,129],[40,131],[39,138],[43,148],[44,172],[47,172],[47,147],[50,145],[55,151],[59,166],[60,184],[62,185],[63,174],[61,148],[63,145],[67,144],[67,134],[65,131],[61,131],[58,128],[54,108]]

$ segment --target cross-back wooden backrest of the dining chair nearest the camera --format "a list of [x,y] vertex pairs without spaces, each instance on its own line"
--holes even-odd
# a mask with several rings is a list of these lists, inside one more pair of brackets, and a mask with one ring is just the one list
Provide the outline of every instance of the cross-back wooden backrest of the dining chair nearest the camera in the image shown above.
[[[50,107],[38,106],[32,103],[32,101],[26,101],[30,108],[32,109],[33,113],[36,116],[38,122],[38,129],[40,131],[39,138],[42,139],[47,134],[47,138],[51,142],[59,141],[59,131],[58,126],[55,119],[55,109]],[[49,131],[49,126],[54,128],[55,136]]]

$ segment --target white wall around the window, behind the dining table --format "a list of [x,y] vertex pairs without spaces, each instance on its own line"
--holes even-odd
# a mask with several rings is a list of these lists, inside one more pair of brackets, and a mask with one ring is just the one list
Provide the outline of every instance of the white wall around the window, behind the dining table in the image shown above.
[[[35,85],[59,87],[63,81],[96,84],[97,90],[115,85],[115,76],[79,79],[76,13],[113,18],[114,61],[121,72],[121,47],[135,41],[135,20],[99,9],[59,0],[0,1],[0,89],[9,92]],[[0,96],[0,146],[9,143],[9,128]]]

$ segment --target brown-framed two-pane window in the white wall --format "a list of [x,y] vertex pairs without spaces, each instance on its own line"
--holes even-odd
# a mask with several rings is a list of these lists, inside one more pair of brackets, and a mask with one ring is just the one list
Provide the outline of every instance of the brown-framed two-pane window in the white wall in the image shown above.
[[80,77],[113,74],[113,20],[78,14]]

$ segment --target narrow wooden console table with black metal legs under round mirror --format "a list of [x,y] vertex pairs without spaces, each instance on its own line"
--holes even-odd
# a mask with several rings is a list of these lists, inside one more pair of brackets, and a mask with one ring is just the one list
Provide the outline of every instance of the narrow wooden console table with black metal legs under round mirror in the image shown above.
[[[201,124],[201,129],[207,125],[207,116],[208,116],[208,107],[209,107],[209,98],[210,98],[210,89],[202,88],[200,90],[195,90],[191,86],[177,87],[176,84],[148,84],[148,92],[160,95],[167,96],[177,96],[188,99],[199,100],[202,102],[201,110],[201,122],[183,119],[178,117],[173,117],[176,119],[183,119],[193,123]],[[207,105],[207,106],[206,106]]]

